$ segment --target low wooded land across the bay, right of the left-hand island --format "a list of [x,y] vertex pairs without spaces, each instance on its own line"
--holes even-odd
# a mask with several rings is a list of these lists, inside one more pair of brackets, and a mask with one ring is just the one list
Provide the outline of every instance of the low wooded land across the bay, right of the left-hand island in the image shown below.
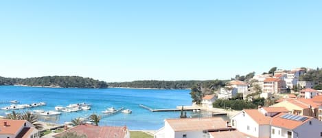
[[198,84],[207,84],[214,80],[137,80],[133,82],[111,82],[109,87],[137,88],[137,89],[191,89]]

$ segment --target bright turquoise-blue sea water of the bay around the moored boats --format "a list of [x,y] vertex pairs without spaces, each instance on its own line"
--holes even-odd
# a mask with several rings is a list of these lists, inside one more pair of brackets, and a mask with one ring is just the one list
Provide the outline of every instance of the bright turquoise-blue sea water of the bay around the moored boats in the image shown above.
[[[20,104],[46,102],[47,106],[26,110],[54,111],[55,106],[67,106],[86,102],[93,104],[90,111],[62,113],[56,117],[42,118],[43,121],[63,124],[76,117],[87,117],[92,113],[102,114],[108,107],[130,108],[132,114],[117,113],[101,120],[101,126],[128,126],[130,129],[157,130],[161,128],[166,118],[177,118],[180,112],[150,112],[139,107],[139,104],[152,108],[176,108],[181,105],[191,105],[189,90],[150,90],[150,89],[74,89],[74,88],[38,88],[38,87],[0,87],[0,102],[18,100]],[[10,104],[0,104],[0,107]],[[5,116],[1,111],[0,115]],[[19,111],[17,111],[19,112]],[[188,112],[187,115],[193,113]]]

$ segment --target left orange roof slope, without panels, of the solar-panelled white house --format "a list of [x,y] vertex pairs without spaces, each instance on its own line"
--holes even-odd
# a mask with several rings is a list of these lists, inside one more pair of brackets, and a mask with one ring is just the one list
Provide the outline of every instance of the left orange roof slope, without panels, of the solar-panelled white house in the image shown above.
[[257,122],[257,124],[269,124],[271,121],[271,117],[266,117],[257,109],[245,109],[244,112],[247,113],[247,115],[249,115],[255,122]]

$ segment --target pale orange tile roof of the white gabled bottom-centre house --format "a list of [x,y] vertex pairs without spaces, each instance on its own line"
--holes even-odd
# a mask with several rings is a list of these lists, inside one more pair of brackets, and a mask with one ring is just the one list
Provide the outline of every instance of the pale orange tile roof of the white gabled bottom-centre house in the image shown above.
[[165,119],[165,122],[176,132],[220,129],[226,128],[227,124],[221,117]]

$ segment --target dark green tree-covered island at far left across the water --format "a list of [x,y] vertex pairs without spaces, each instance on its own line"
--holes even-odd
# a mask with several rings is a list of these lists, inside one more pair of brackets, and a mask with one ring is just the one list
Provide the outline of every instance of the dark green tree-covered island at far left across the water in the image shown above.
[[21,85],[28,87],[62,87],[62,88],[108,88],[104,81],[80,76],[44,76],[37,78],[4,78],[0,85]]

